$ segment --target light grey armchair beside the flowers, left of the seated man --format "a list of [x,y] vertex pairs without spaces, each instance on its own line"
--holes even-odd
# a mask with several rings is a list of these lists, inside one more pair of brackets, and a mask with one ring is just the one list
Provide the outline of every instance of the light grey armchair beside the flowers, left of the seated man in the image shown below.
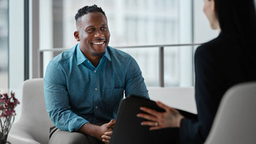
[[47,144],[50,126],[53,126],[45,108],[42,78],[26,80],[20,119],[12,125],[7,140],[12,144]]

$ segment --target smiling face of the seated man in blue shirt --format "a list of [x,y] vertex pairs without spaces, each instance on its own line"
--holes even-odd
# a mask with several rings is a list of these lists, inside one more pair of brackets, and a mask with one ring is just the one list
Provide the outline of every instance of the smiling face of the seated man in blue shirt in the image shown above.
[[[88,58],[102,56],[110,40],[108,20],[101,12],[83,15],[77,23],[75,38],[79,41],[80,50]],[[77,32],[77,33],[76,33]]]

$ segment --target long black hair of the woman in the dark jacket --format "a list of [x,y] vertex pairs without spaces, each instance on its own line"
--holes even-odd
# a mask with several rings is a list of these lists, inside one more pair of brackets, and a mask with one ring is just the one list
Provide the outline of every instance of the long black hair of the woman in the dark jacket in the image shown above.
[[[215,0],[222,33],[236,42],[244,59],[256,55],[256,12],[254,0]],[[230,53],[231,54],[231,53]],[[255,61],[256,62],[256,61]]]

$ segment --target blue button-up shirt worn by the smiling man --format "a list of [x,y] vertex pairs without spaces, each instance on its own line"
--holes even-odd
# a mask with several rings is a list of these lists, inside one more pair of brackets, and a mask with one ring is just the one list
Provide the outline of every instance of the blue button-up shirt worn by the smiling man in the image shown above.
[[75,45],[49,62],[44,81],[50,119],[69,132],[78,131],[86,123],[116,118],[124,93],[149,98],[135,59],[110,46],[94,67],[79,44]]

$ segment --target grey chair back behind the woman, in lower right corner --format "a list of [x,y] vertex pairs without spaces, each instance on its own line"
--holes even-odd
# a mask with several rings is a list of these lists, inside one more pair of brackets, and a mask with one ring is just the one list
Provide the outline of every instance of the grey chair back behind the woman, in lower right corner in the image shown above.
[[206,144],[256,143],[256,82],[230,88],[222,98]]

